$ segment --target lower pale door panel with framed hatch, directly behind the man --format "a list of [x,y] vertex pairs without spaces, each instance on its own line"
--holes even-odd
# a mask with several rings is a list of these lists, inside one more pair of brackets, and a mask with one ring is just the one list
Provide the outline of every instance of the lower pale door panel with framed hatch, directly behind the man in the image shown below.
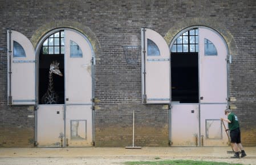
[[[227,135],[222,126],[226,104],[202,104],[200,106],[201,135],[204,146],[227,146]],[[227,126],[227,125],[226,125]]]

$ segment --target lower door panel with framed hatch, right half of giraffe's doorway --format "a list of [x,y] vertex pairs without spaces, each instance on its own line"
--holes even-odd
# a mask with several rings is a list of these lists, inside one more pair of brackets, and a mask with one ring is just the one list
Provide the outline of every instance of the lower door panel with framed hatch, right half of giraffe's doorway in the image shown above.
[[68,146],[92,145],[91,105],[66,106],[66,138]]

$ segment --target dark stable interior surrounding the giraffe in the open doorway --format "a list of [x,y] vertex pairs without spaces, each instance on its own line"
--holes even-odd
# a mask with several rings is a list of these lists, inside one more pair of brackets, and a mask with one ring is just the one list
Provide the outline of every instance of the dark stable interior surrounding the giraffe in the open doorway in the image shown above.
[[64,104],[64,55],[63,54],[43,54],[42,48],[39,55],[39,104],[41,98],[48,89],[49,71],[52,61],[58,61],[59,70],[63,76],[53,74],[54,90],[59,95],[58,104]]

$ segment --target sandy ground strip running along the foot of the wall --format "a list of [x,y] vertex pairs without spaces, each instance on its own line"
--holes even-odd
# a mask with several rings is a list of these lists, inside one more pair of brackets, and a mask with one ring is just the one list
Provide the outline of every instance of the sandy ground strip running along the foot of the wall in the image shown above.
[[245,147],[247,156],[230,159],[230,147],[120,147],[0,148],[0,164],[123,164],[129,161],[206,160],[256,164],[256,147]]

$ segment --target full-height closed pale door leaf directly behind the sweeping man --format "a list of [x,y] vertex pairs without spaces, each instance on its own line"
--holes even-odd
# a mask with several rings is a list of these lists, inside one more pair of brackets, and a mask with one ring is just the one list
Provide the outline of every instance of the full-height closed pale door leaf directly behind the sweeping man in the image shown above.
[[199,34],[201,145],[226,146],[220,117],[227,106],[227,49],[217,32],[199,28]]

